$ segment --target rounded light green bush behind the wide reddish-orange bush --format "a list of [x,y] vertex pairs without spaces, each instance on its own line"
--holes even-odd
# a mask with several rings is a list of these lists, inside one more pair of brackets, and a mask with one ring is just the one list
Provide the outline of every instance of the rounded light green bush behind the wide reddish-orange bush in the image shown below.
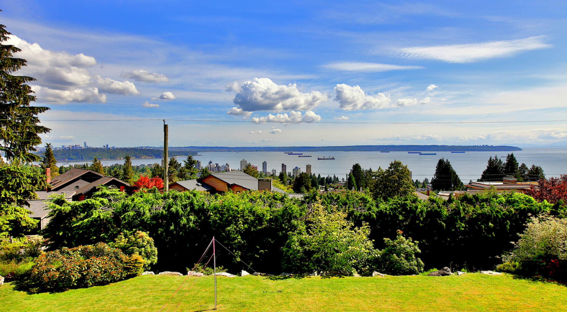
[[138,254],[143,259],[143,269],[149,270],[152,264],[158,262],[158,248],[154,239],[146,232],[136,231],[132,234],[120,233],[111,246],[120,248],[126,255]]

